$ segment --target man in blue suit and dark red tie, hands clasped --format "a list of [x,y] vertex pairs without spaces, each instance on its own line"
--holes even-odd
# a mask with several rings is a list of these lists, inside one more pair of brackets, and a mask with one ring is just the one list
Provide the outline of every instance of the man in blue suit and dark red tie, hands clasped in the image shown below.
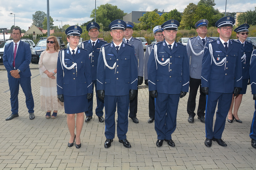
[[11,36],[13,43],[9,43],[5,46],[3,63],[8,73],[12,114],[5,120],[12,120],[19,116],[18,94],[20,86],[26,97],[29,119],[32,120],[35,119],[35,115],[34,99],[31,91],[31,72],[29,68],[31,62],[31,50],[28,43],[20,41],[20,28],[14,27]]

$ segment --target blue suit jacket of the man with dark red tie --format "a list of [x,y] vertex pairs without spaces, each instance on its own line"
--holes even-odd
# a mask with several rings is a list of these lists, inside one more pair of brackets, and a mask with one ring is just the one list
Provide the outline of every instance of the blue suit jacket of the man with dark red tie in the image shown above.
[[7,72],[9,73],[11,70],[20,70],[20,78],[23,77],[30,77],[31,72],[29,68],[29,64],[31,62],[31,50],[28,43],[20,41],[16,57],[15,57],[15,69],[12,67],[13,63],[13,42],[7,44],[4,48],[4,56],[3,56],[3,63],[4,67],[6,68]]

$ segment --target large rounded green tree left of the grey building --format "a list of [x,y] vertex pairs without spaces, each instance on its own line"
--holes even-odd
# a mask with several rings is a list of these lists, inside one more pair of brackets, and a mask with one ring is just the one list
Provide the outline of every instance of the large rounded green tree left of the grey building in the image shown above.
[[[96,22],[102,23],[104,26],[104,30],[109,30],[109,24],[110,22],[117,20],[117,19],[123,19],[123,17],[127,13],[124,13],[123,10],[117,8],[117,6],[113,6],[112,4],[104,4],[100,5],[96,9]],[[92,13],[90,15],[90,18],[94,18],[95,15],[95,9],[92,10]]]

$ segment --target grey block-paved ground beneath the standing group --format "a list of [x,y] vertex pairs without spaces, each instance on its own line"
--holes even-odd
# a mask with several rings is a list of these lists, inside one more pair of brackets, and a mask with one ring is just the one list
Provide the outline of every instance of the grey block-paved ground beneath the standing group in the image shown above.
[[195,119],[193,124],[187,122],[188,95],[179,102],[177,128],[172,134],[176,147],[169,147],[166,142],[163,147],[156,147],[154,123],[147,123],[148,88],[141,86],[137,114],[139,124],[134,124],[128,118],[127,139],[132,148],[124,148],[116,135],[112,146],[105,149],[105,123],[98,122],[94,114],[93,120],[84,123],[82,147],[76,149],[67,147],[69,131],[64,110],[58,111],[56,119],[45,119],[45,111],[40,110],[40,75],[37,67],[38,64],[31,64],[36,118],[29,120],[25,96],[20,88],[19,117],[5,121],[11,114],[10,93],[7,72],[0,63],[0,170],[256,169],[256,149],[251,147],[249,137],[254,113],[250,86],[238,113],[243,123],[226,123],[222,139],[228,144],[227,147],[219,146],[216,142],[211,148],[204,145],[204,124],[199,119]]

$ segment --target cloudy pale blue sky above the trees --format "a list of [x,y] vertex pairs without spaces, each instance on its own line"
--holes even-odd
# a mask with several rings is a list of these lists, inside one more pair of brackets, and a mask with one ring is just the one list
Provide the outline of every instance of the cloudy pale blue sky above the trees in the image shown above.
[[[76,23],[83,24],[92,20],[90,14],[92,10],[101,4],[116,5],[124,12],[131,13],[132,11],[152,11],[158,9],[159,11],[169,12],[173,9],[177,9],[179,12],[183,12],[184,8],[189,3],[197,4],[199,0],[179,0],[175,3],[171,3],[171,0],[49,0],[49,12],[50,16],[54,20],[54,25],[69,24],[75,25]],[[220,12],[225,12],[225,0],[215,0],[214,8],[218,8]],[[256,7],[255,0],[227,0],[226,12],[246,12],[247,10],[254,10]],[[32,24],[32,15],[36,11],[44,11],[47,13],[47,0],[8,0],[5,3],[1,3],[0,6],[0,27],[10,28],[15,25],[21,29],[28,30],[28,27]],[[10,14],[13,13],[13,14]],[[97,17],[97,16],[96,16]],[[207,18],[206,18],[207,19]],[[108,25],[107,25],[108,26]]]

